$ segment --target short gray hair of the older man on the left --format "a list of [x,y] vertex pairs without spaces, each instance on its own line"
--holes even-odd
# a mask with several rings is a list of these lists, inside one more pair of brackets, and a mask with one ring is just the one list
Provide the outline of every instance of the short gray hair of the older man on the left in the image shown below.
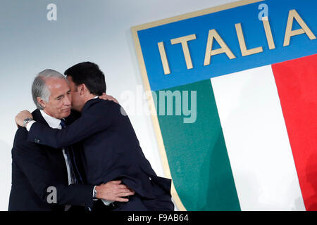
[[39,110],[43,110],[44,108],[37,102],[37,97],[42,98],[46,102],[49,102],[49,96],[51,96],[51,92],[49,91],[49,88],[46,86],[45,81],[46,79],[49,79],[51,77],[66,79],[66,77],[62,75],[60,72],[57,72],[56,70],[47,69],[43,70],[42,72],[39,72],[39,74],[37,75],[37,77],[35,77],[34,82],[32,84],[32,98],[35,105],[37,106],[37,109]]

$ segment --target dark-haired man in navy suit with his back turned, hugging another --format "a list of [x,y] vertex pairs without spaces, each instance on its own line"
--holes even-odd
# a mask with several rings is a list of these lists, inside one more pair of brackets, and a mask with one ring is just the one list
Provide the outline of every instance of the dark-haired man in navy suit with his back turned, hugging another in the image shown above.
[[[66,129],[49,129],[32,121],[27,140],[54,148],[82,141],[87,184],[103,184],[120,179],[135,195],[116,210],[173,210],[170,179],[156,176],[144,157],[128,116],[113,101],[98,98],[106,91],[104,73],[94,63],[79,63],[66,70],[72,107],[80,118]],[[22,124],[25,117],[15,117]]]

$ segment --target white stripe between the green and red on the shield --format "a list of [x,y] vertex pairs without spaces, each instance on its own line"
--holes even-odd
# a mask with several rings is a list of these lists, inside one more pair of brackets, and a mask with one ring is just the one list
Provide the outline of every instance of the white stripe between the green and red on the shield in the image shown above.
[[271,65],[211,84],[241,210],[305,210]]

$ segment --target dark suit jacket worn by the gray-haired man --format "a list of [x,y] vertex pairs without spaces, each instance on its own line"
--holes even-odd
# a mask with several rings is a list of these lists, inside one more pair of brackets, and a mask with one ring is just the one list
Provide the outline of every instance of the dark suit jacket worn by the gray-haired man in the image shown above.
[[[37,124],[49,127],[39,110],[33,118]],[[92,206],[92,185],[68,186],[66,162],[61,148],[53,150],[27,141],[27,130],[19,127],[12,148],[12,185],[8,210],[16,211],[63,211],[65,205]],[[47,198],[56,188],[57,201],[48,203]],[[78,208],[78,207],[77,207]]]

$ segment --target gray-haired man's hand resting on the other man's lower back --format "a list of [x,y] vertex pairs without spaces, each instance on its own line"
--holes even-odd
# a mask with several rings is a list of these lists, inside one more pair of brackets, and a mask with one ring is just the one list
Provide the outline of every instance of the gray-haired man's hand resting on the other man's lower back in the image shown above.
[[97,198],[116,202],[128,202],[128,198],[123,197],[135,194],[135,191],[132,191],[128,186],[121,184],[121,181],[109,181],[106,184],[101,184],[96,186],[96,191]]

